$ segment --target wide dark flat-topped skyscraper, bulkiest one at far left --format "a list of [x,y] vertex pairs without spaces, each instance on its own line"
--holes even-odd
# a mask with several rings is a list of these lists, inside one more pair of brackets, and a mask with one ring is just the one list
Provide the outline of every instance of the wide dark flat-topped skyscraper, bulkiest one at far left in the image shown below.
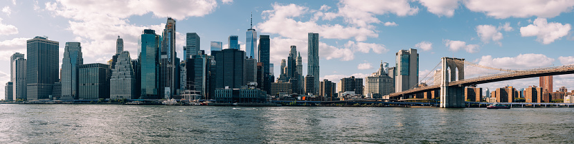
[[47,99],[52,94],[54,82],[58,82],[59,42],[46,37],[34,37],[26,41],[26,95],[28,100]]

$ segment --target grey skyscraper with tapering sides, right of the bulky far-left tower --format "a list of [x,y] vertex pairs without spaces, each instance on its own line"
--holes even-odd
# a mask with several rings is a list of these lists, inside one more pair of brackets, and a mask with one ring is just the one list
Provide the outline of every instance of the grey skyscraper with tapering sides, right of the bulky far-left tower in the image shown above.
[[79,42],[66,42],[62,58],[62,97],[61,100],[78,98],[78,66],[84,64],[82,46]]

